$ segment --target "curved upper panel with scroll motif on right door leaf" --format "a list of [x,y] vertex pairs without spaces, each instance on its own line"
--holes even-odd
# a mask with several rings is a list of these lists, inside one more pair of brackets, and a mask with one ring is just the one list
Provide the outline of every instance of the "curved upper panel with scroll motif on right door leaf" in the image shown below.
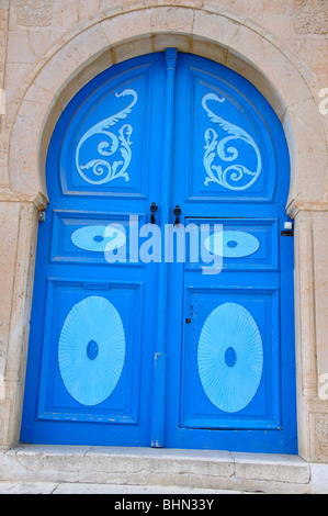
[[[179,117],[186,138],[176,158],[188,170],[186,200],[192,202],[271,202],[275,184],[275,155],[268,132],[268,106],[236,74],[201,59],[183,56],[179,77],[184,90],[177,94]],[[186,167],[186,168],[184,168]]]

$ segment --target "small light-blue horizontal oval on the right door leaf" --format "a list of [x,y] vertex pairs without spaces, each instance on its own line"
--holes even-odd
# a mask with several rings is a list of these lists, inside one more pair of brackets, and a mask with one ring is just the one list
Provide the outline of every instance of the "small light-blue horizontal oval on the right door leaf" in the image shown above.
[[214,235],[205,240],[205,248],[213,255],[224,258],[244,258],[257,253],[260,248],[259,240],[250,233],[245,232],[223,232],[222,240],[215,245]]

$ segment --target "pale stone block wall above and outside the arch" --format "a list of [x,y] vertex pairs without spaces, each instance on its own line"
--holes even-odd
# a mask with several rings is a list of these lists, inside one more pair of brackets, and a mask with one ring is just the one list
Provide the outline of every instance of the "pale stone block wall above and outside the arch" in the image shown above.
[[[0,78],[3,80],[5,60],[5,89],[14,93],[14,85],[25,78],[32,65],[55,45],[58,37],[73,31],[78,23],[103,10],[110,15],[111,12],[147,4],[204,5],[210,10],[218,5],[235,10],[260,23],[293,48],[316,74],[318,88],[328,85],[326,0],[1,0]],[[173,9],[171,16],[176,18]]]

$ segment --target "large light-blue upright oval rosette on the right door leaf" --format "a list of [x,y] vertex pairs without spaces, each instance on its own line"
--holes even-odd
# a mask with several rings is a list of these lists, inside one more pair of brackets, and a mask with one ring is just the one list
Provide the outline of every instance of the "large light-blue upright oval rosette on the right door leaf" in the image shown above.
[[236,413],[253,400],[262,378],[262,339],[250,313],[226,303],[207,317],[199,343],[199,372],[210,401]]

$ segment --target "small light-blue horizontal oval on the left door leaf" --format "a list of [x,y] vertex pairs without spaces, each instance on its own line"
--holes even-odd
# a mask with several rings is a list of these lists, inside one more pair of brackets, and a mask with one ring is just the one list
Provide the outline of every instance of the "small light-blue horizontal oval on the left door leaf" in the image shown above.
[[123,247],[126,235],[115,225],[84,226],[73,232],[70,239],[79,249],[105,253]]

